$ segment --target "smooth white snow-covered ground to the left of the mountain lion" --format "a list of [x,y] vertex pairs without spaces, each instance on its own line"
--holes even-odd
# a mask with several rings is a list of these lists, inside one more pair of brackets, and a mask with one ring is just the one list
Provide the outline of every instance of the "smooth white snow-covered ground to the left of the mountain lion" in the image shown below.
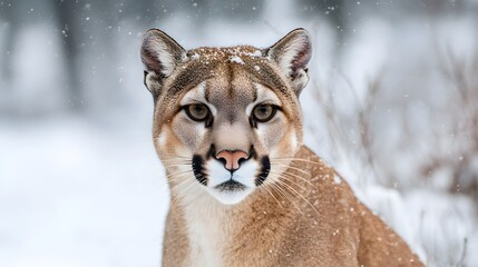
[[158,266],[168,192],[150,126],[125,123],[0,123],[0,266]]

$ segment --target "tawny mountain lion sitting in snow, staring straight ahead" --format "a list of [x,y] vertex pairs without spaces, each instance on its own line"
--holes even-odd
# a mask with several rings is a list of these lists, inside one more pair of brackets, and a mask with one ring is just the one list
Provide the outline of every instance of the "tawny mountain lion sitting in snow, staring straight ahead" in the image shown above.
[[140,55],[172,191],[164,266],[422,266],[302,145],[305,30],[185,50],[152,29]]

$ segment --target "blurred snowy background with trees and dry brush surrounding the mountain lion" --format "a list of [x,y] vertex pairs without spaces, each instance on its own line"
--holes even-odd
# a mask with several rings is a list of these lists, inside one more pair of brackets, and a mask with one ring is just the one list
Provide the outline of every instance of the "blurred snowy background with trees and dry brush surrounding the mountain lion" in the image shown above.
[[0,266],[159,266],[139,41],[313,36],[305,142],[428,266],[478,266],[478,1],[0,0]]

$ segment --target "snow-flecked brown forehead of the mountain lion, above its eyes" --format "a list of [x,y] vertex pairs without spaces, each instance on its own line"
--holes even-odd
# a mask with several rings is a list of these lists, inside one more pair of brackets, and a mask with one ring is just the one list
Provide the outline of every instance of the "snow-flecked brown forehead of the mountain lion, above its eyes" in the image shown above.
[[207,81],[206,95],[222,101],[254,101],[256,90],[253,83],[291,96],[270,59],[255,47],[201,47],[189,50],[187,55],[188,60],[170,80],[165,100],[185,93],[204,81]]

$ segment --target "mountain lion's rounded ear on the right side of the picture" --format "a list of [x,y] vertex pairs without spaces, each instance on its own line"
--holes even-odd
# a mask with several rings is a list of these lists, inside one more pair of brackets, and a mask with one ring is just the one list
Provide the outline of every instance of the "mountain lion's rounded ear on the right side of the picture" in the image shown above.
[[295,29],[279,40],[266,51],[270,59],[290,78],[299,96],[309,81],[308,63],[312,57],[312,42],[309,32]]

